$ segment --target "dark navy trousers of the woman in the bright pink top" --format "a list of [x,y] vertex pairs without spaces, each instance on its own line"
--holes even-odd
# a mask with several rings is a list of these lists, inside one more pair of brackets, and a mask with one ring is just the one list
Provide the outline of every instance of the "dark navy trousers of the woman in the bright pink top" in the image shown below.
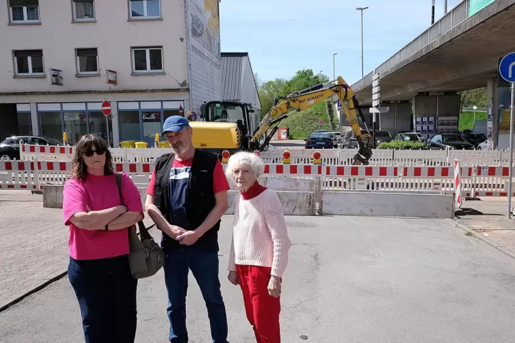
[[68,279],[81,309],[85,343],[133,343],[136,289],[127,256],[74,260]]

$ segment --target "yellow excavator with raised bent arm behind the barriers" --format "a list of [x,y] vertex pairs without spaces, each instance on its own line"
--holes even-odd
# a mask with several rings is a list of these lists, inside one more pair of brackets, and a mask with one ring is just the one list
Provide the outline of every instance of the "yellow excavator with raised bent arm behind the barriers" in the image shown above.
[[[190,123],[194,129],[194,146],[213,152],[228,150],[231,154],[238,150],[266,151],[282,120],[332,96],[339,98],[358,140],[358,153],[354,155],[353,165],[368,165],[372,156],[372,137],[354,92],[342,77],[276,98],[274,107],[255,129],[254,109],[250,104],[233,101],[207,102],[201,109],[204,122]],[[358,114],[365,125],[366,133],[360,128]]]

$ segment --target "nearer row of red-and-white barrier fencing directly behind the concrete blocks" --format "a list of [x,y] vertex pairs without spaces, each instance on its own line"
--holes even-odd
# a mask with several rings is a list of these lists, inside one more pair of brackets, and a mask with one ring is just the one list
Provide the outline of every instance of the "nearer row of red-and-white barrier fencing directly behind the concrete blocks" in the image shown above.
[[[226,165],[224,165],[225,169]],[[153,163],[114,163],[118,172],[146,187]],[[0,161],[0,189],[42,189],[44,184],[64,184],[71,177],[70,161]],[[455,171],[459,171],[458,175]],[[443,191],[463,197],[506,196],[508,168],[415,167],[364,165],[266,164],[265,175],[320,178],[322,189],[374,191]]]

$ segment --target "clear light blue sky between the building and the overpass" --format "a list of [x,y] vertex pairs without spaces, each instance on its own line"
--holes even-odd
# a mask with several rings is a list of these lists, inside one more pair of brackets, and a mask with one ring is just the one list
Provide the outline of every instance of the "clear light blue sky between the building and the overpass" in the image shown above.
[[[448,10],[460,0],[448,0]],[[297,70],[323,70],[347,83],[361,78],[363,12],[365,75],[431,25],[432,0],[222,0],[222,52],[246,51],[262,81],[292,77]],[[444,0],[436,0],[435,21]]]

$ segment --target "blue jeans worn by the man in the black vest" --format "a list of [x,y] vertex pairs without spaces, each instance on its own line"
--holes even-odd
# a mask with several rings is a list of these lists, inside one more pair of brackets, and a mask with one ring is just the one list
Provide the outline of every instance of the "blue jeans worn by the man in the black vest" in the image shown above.
[[222,292],[220,292],[217,251],[204,251],[192,246],[164,250],[166,263],[163,269],[168,290],[170,342],[188,342],[186,293],[188,272],[191,269],[206,302],[213,343],[228,343],[227,315]]

